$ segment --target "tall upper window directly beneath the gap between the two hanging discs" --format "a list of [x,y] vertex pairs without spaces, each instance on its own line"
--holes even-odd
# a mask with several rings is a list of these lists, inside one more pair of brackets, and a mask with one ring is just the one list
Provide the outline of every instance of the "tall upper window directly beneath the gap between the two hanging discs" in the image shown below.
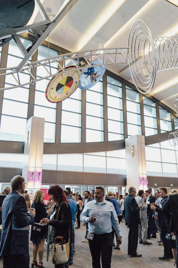
[[62,102],[61,143],[81,142],[81,89]]

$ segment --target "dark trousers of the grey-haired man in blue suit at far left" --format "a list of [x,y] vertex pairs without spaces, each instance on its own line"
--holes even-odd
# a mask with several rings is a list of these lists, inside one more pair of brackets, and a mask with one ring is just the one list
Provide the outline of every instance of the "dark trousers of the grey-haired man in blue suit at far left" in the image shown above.
[[29,253],[3,256],[3,268],[29,268],[29,263]]

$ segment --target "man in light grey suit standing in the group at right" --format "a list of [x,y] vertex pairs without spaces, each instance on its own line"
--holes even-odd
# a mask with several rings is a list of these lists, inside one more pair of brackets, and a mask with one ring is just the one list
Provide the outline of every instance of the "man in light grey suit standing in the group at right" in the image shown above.
[[[151,245],[151,242],[147,241],[147,204],[143,200],[144,191],[139,190],[138,196],[135,198],[138,205],[142,205],[140,209],[140,220],[141,224],[139,224],[139,243],[144,245]],[[143,238],[142,238],[142,226],[143,226]]]

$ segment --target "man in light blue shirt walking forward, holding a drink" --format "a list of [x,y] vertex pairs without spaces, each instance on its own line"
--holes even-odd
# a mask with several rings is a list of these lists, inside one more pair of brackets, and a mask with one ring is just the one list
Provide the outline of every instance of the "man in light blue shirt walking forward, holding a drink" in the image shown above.
[[93,268],[111,267],[112,226],[117,233],[118,244],[122,243],[120,225],[111,202],[104,200],[104,188],[96,187],[95,200],[85,205],[81,222],[88,223],[88,243],[92,256]]

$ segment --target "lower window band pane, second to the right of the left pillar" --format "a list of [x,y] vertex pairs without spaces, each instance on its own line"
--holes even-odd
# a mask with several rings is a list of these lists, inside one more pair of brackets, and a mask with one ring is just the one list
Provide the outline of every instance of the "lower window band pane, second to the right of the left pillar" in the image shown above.
[[58,170],[83,171],[83,155],[59,154]]

